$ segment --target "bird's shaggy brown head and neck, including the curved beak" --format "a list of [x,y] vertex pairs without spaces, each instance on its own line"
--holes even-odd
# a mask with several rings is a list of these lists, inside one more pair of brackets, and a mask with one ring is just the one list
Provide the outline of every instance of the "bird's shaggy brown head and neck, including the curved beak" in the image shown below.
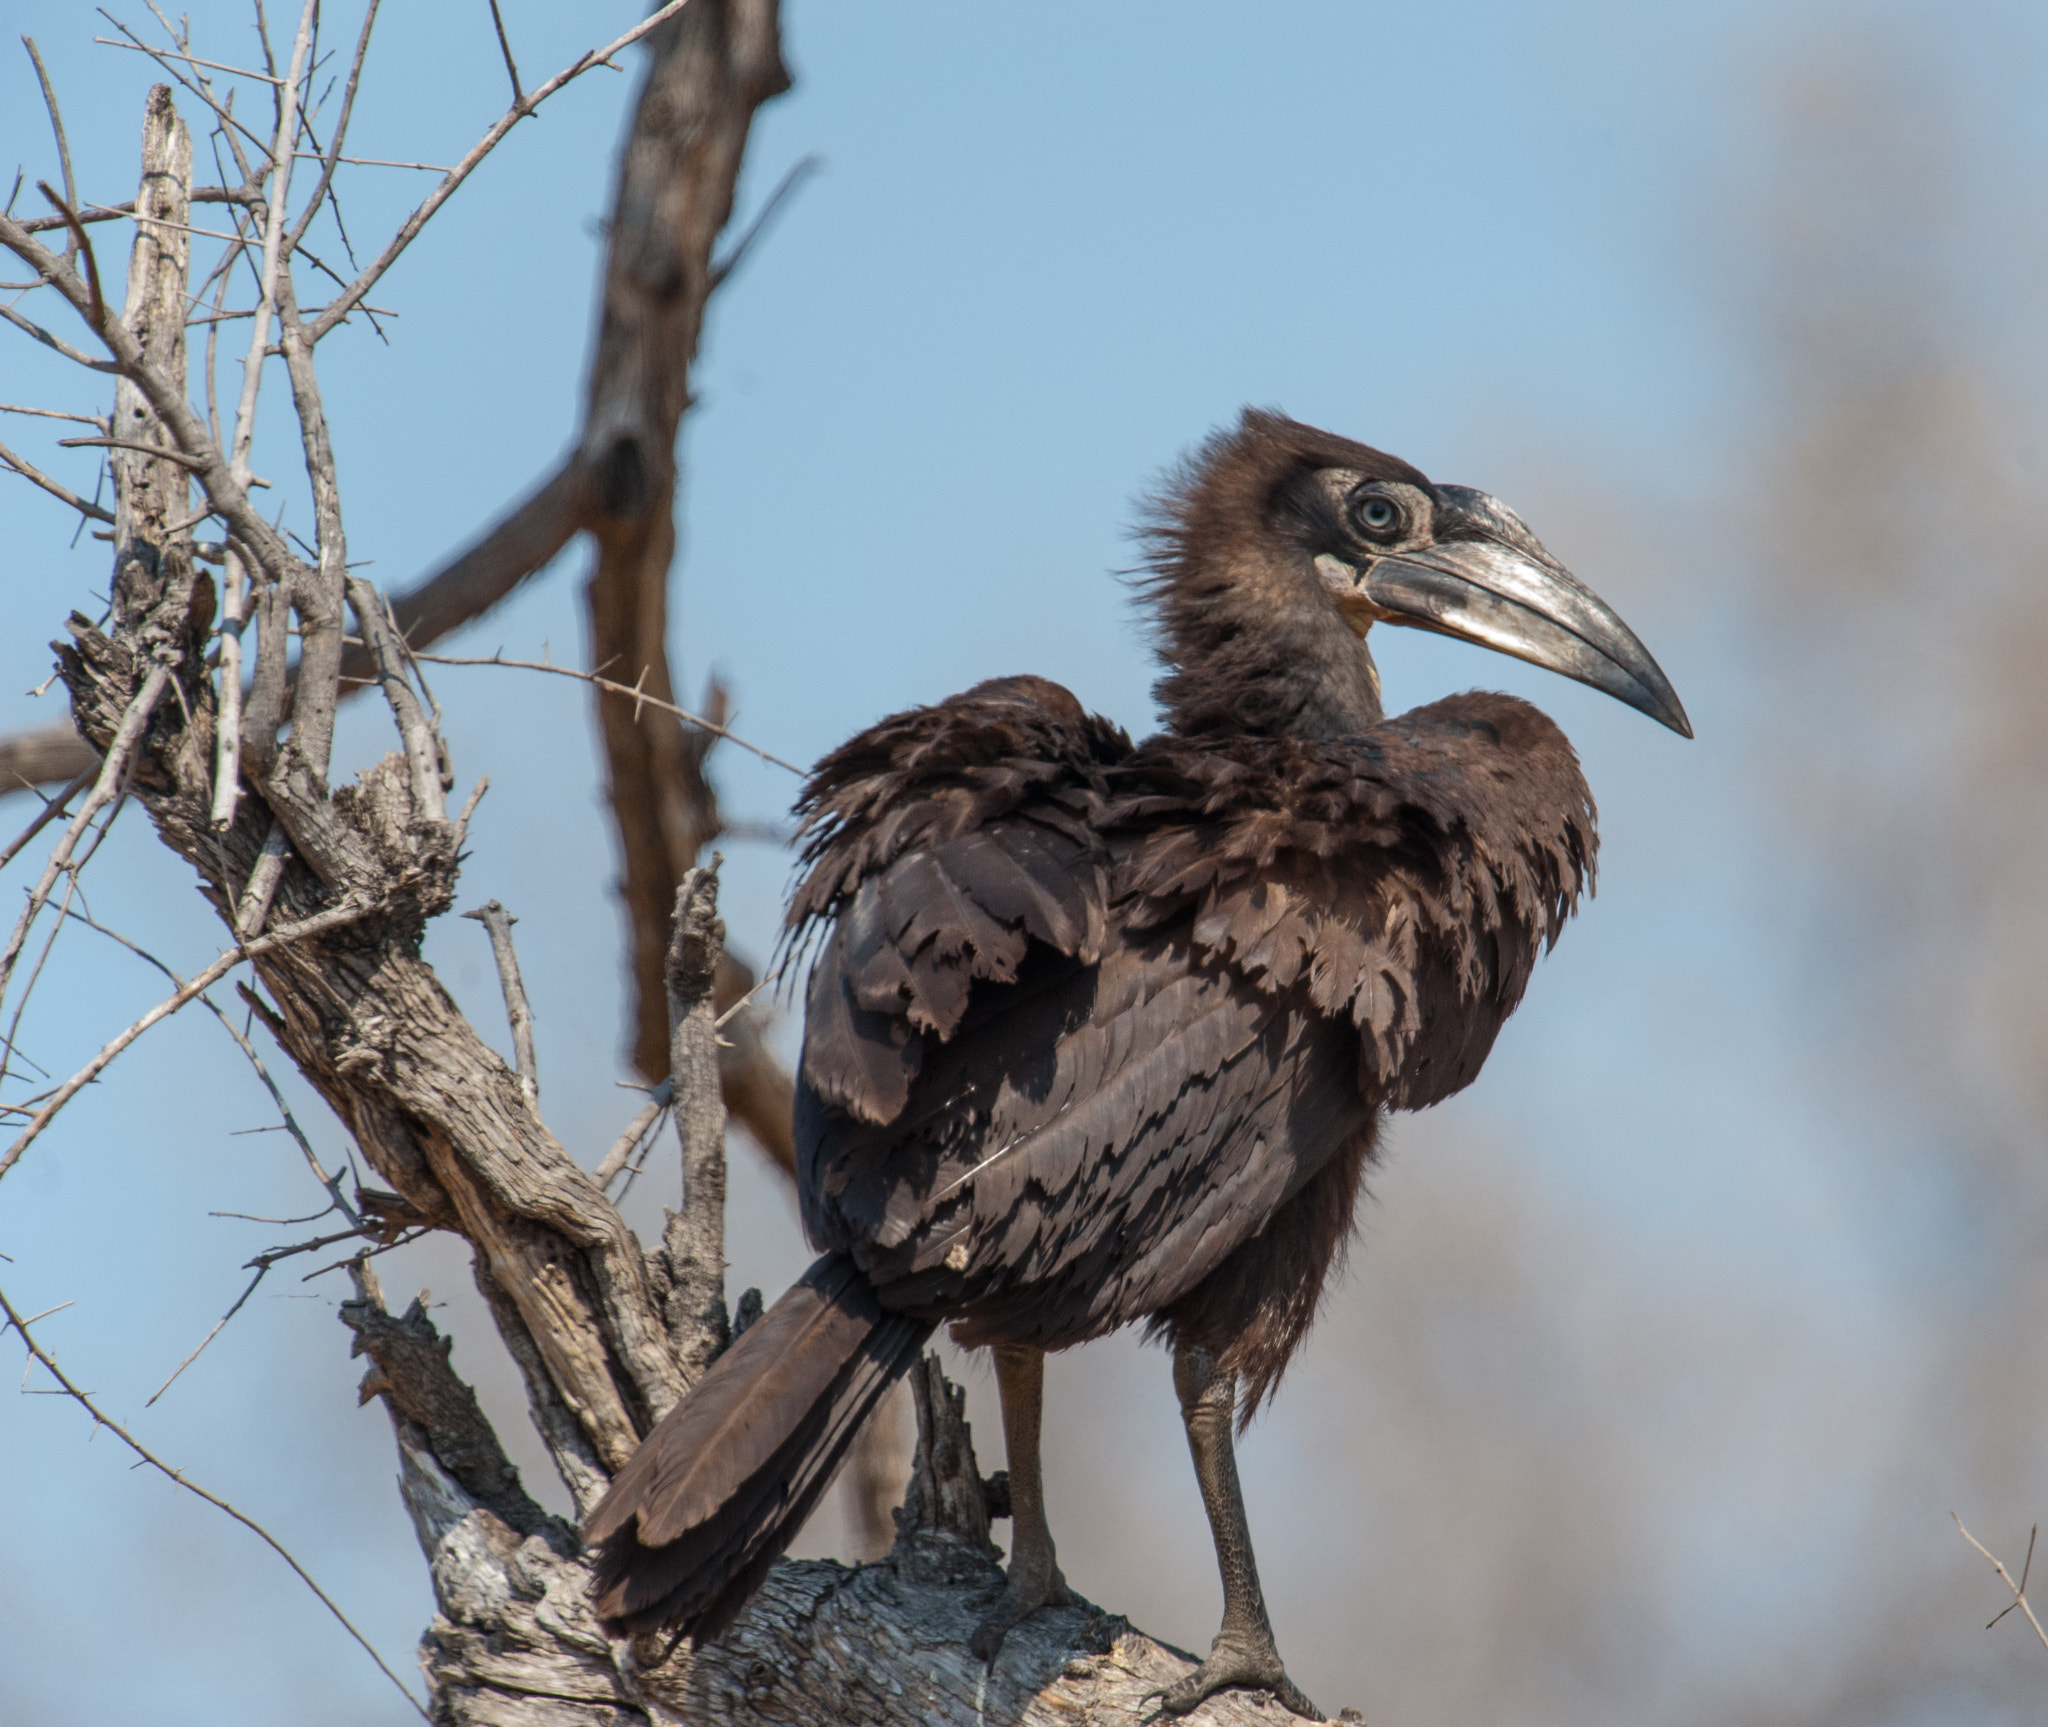
[[1497,498],[1245,410],[1155,500],[1147,592],[1178,731],[1329,735],[1380,719],[1374,623],[1434,629],[1606,690],[1692,738],[1614,608]]

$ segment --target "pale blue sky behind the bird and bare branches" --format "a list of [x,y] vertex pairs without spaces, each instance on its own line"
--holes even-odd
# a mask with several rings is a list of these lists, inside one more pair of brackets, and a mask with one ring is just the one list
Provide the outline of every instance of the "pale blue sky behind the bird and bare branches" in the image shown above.
[[[104,27],[70,0],[10,0],[6,16],[49,59],[86,195],[127,197],[147,64],[94,47]],[[506,16],[532,82],[623,29],[633,8],[512,0]],[[1868,1170],[1845,1162],[1894,1123],[1831,1078],[1837,1057],[1810,1020],[1804,955],[1786,938],[1800,918],[1780,877],[1792,824],[1753,791],[1772,694],[1759,680],[1774,672],[1755,651],[1737,502],[1774,383],[1745,322],[1741,213],[1784,70],[1825,66],[1831,33],[1931,41],[2013,184],[2040,168],[2040,119],[2021,100],[2042,66],[2040,23],[2017,6],[1985,8],[1970,31],[1944,29],[1946,16],[1911,4],[1692,0],[799,0],[786,16],[797,88],[760,117],[741,211],[799,158],[817,154],[823,170],[709,320],[682,440],[672,651],[686,692],[721,670],[737,729],[793,760],[887,711],[1018,670],[1147,729],[1151,664],[1116,580],[1135,557],[1135,500],[1247,402],[1497,492],[1628,617],[1681,690],[1694,744],[1477,649],[1419,635],[1376,643],[1391,707],[1487,684],[1556,715],[1599,797],[1604,852],[1597,901],[1544,963],[1483,1080],[1397,1127],[1401,1155],[1364,1254],[1401,1231],[1403,1196],[1456,1231],[1479,1229],[1495,1190],[1528,1192],[1532,1217],[1569,1219],[1532,1225],[1528,1239],[1559,1256],[1532,1276],[1565,1291],[1552,1342],[1563,1338],[1571,1360],[1620,1360],[1638,1303],[1694,1317],[1720,1303],[1729,1315],[1686,1346],[1698,1354],[1679,1348],[1677,1366],[1653,1375],[1647,1414],[1614,1424],[1665,1422],[1669,1432],[1638,1436],[1645,1455],[1694,1459],[1669,1465],[1669,1502],[1645,1489],[1655,1506],[1645,1528],[1683,1561],[1673,1577],[1634,1553],[1638,1594],[1663,1602],[1655,1637],[1645,1633],[1657,1655],[1587,1655],[1581,1692],[1501,1680],[1530,1698],[1532,1721],[1692,1719],[1710,1692],[1704,1676],[1739,1688],[1741,1674],[1716,1670],[1720,1639],[1749,1649],[1741,1672],[1778,1674],[1800,1639],[1823,1635],[1817,1602],[1841,1582],[1827,1547],[1862,1512],[1858,1469],[1815,1459],[1841,1432],[1882,1428],[1870,1412],[1909,1395],[1915,1276],[1948,1264],[1913,1270],[1929,1209],[1911,1192],[1874,1192]],[[248,55],[240,10],[195,6],[193,20],[199,53]],[[389,346],[358,328],[322,350],[350,555],[373,559],[385,584],[410,584],[465,543],[549,469],[575,424],[596,223],[631,86],[592,74],[524,123],[377,291],[401,313]],[[481,4],[393,6],[352,137],[365,154],[449,162],[500,104]],[[0,55],[0,166],[27,164],[31,186],[51,174],[18,51]],[[356,170],[358,248],[424,184]],[[94,387],[0,332],[0,399],[86,412],[100,406]],[[47,451],[37,422],[0,420],[6,443]],[[82,453],[49,459],[90,490]],[[256,467],[303,531],[283,391],[266,395]],[[0,510],[10,526],[0,582],[16,621],[0,635],[0,725],[12,727],[55,715],[59,694],[23,692],[47,674],[43,643],[66,610],[92,610],[84,596],[104,584],[104,561],[90,541],[68,549],[63,510],[18,481],[0,490]],[[455,651],[580,656],[580,574],[571,551]],[[631,1098],[616,1090],[618,918],[588,705],[565,680],[514,672],[444,670],[436,692],[459,778],[492,776],[461,903],[496,895],[518,914],[547,1117],[594,1160]],[[352,709],[338,762],[362,766],[383,748],[381,717]],[[735,815],[786,809],[786,774],[731,750],[717,764]],[[8,811],[14,819],[20,799]],[[725,881],[733,942],[758,959],[786,862],[735,846]],[[215,951],[209,914],[141,819],[127,817],[88,887],[96,916],[170,963],[190,969]],[[66,936],[25,1028],[29,1053],[59,1071],[160,994],[92,940]],[[428,953],[502,1043],[481,932],[446,920]],[[12,1264],[0,1274],[29,1311],[76,1299],[47,1321],[66,1362],[166,1455],[303,1549],[403,1661],[430,1610],[424,1567],[389,1487],[383,1420],[354,1409],[332,1317],[338,1278],[274,1280],[274,1297],[266,1289],[178,1391],[141,1414],[240,1289],[238,1264],[268,1246],[258,1225],[207,1213],[311,1209],[279,1135],[227,1133],[264,1119],[215,1026],[186,1014],[152,1033],[8,1178],[0,1252]],[[317,1104],[305,1119],[338,1155]],[[1448,1174],[1421,1174],[1438,1153]],[[803,1258],[786,1201],[739,1155],[733,1291],[772,1293]],[[449,1303],[457,1362],[502,1399],[508,1440],[530,1465],[461,1260],[428,1248],[387,1266],[393,1293],[430,1284]],[[1350,1373],[1341,1350],[1370,1356],[1358,1338],[1374,1336],[1364,1301],[1376,1276],[1362,1274],[1331,1319],[1352,1342],[1311,1354],[1298,1379]],[[1055,1436],[1055,1489],[1102,1444],[1157,1444],[1180,1469],[1163,1360],[1122,1346],[1104,1346],[1102,1360],[1073,1366],[1073,1385],[1114,1381],[1126,1401]],[[1716,1448],[1702,1434],[1716,1430],[1712,1409],[1741,1387],[1743,1362],[1767,1381],[1769,1407]],[[1800,1401],[1817,1377],[1835,1393],[1825,1409]],[[1602,1383],[1604,1407],[1626,1401],[1626,1375]],[[977,1385],[977,1407],[983,1393]],[[1294,1555],[1321,1539],[1331,1434],[1348,1430],[1333,1420],[1323,1393],[1296,1385],[1247,1452],[1255,1514],[1262,1493],[1274,1508],[1262,1559],[1284,1639],[1288,1606],[1309,1614],[1317,1596],[1313,1567]],[[987,1418],[983,1432],[995,1432]],[[305,1721],[406,1719],[268,1555],[215,1512],[127,1473],[106,1436],[88,1444],[74,1409],[0,1399],[0,1455],[10,1721],[217,1723],[287,1709]],[[2038,1448],[2030,1469],[2040,1481]],[[1939,1516],[1966,1471],[1927,1459],[1927,1473]],[[1083,1528],[1061,1532],[1055,1502],[1067,1571],[1104,1598],[1122,1588],[1114,1606],[1198,1643],[1214,1608],[1198,1522],[1188,1541],[1192,1483],[1161,1471],[1141,1498],[1126,1508],[1133,1528],[1178,1543],[1159,1549],[1178,1557],[1139,1567],[1149,1575],[1118,1569],[1108,1553],[1092,1557]],[[1360,1518],[1380,1516],[1360,1506]],[[2005,1510],[2021,1524],[2032,1516]],[[1761,1530],[1790,1530],[1784,1549]],[[815,1547],[829,1545],[825,1530]],[[1198,1582],[1169,1579],[1178,1569]],[[100,1633],[82,1627],[80,1602]],[[80,1666],[109,1620],[147,1680]],[[1350,1690],[1346,1700],[1378,1719],[1370,1666],[1327,1645],[1296,1657],[1296,1674],[1325,1702]],[[1837,1659],[1849,1657],[1821,1666]],[[1688,1674],[1708,1690],[1688,1690]],[[1462,1704],[1438,1702],[1462,1719]]]

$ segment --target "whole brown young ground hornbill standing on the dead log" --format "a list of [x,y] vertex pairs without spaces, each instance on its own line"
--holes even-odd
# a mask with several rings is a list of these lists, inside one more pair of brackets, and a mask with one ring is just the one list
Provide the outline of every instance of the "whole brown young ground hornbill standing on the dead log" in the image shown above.
[[862,731],[805,789],[797,1084],[823,1254],[592,1514],[598,1610],[705,1637],[862,1418],[952,1321],[989,1344],[1014,1543],[973,1647],[1065,1596],[1038,1475],[1044,1352],[1174,1346],[1223,1629],[1165,1698],[1264,1686],[1274,1647],[1231,1422],[1343,1254],[1380,1117],[1470,1084],[1593,873],[1593,801],[1538,709],[1397,719],[1366,649],[1419,625],[1692,735],[1630,629],[1483,492],[1247,412],[1149,526],[1167,725],[1133,746],[1044,678]]

